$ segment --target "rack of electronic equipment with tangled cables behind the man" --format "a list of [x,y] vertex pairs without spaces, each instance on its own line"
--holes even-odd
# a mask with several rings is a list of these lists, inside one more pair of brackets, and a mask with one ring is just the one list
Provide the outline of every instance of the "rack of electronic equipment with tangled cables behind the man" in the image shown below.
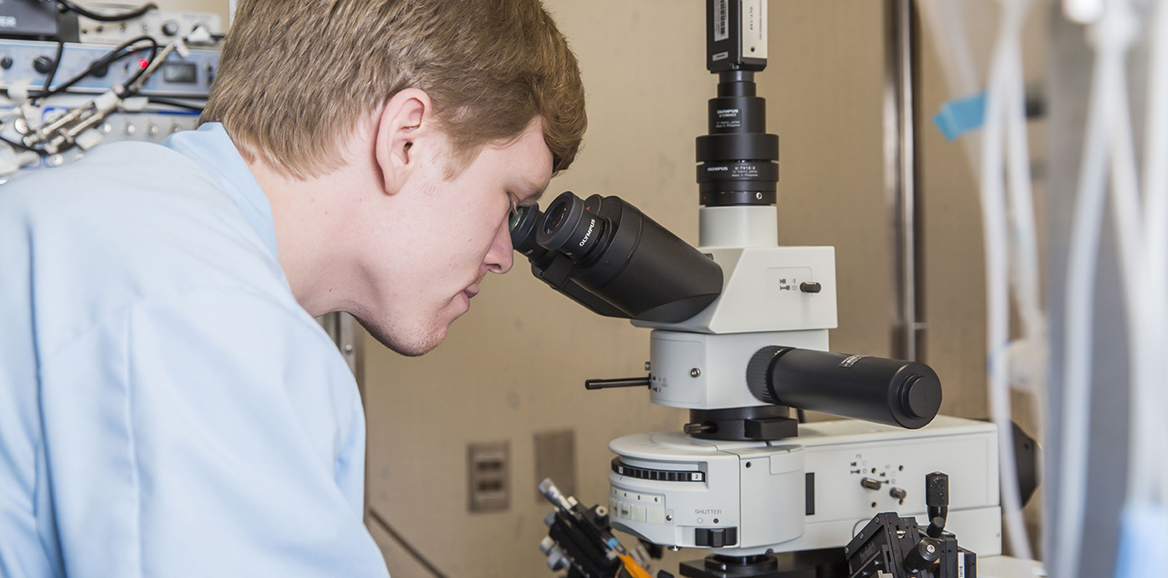
[[15,22],[0,27],[0,183],[100,142],[160,142],[197,126],[218,68],[217,15],[40,0],[0,8]]

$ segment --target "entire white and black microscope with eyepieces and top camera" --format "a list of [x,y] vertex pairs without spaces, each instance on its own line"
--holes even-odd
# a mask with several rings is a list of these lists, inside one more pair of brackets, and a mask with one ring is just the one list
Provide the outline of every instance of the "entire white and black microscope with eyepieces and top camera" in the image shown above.
[[[834,249],[778,245],[779,141],[755,84],[766,0],[705,8],[718,85],[696,146],[700,246],[617,196],[568,191],[510,222],[537,278],[652,329],[647,376],[585,387],[644,387],[651,402],[689,411],[681,432],[609,445],[607,504],[584,508],[541,485],[555,506],[541,544],[549,566],[649,577],[614,529],[653,557],[709,550],[681,564],[691,578],[974,577],[973,551],[1001,553],[994,426],[937,417],[941,385],[924,363],[829,350]],[[791,409],[850,419],[800,424]]]

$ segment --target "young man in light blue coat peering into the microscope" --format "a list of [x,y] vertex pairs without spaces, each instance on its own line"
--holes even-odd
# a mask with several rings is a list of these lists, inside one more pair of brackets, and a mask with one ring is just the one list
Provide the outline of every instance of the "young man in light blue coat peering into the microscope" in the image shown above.
[[436,347],[585,127],[538,0],[244,0],[203,120],[0,190],[0,576],[384,576],[312,318]]

